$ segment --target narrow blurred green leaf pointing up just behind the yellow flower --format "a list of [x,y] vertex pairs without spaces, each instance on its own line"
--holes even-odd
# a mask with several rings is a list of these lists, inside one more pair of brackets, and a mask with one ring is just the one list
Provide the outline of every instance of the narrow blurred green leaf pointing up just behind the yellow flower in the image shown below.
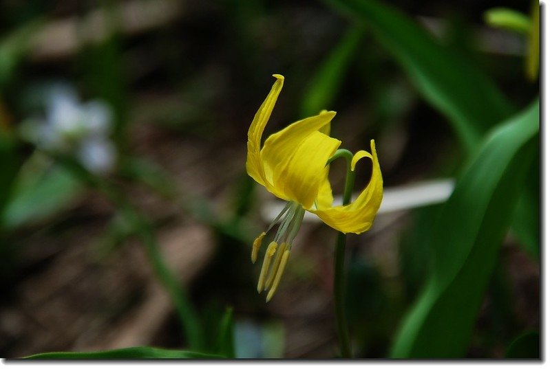
[[300,116],[308,117],[319,113],[322,109],[330,109],[348,65],[359,47],[363,33],[363,27],[352,27],[340,43],[332,49],[308,85],[302,100]]

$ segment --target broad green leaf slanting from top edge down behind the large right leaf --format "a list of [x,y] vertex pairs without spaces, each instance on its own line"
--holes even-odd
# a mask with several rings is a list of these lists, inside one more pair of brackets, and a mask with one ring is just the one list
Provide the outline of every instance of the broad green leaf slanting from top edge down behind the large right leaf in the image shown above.
[[374,0],[324,1],[372,30],[427,102],[451,120],[468,152],[488,128],[512,113],[482,71],[399,10]]

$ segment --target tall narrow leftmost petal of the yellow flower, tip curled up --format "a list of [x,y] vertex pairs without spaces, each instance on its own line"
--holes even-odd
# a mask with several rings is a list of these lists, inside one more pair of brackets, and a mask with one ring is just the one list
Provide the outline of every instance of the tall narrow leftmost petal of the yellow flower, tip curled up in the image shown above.
[[248,153],[246,155],[246,172],[250,175],[257,183],[260,183],[263,186],[266,186],[266,179],[264,173],[264,166],[262,164],[262,159],[260,157],[260,145],[262,142],[262,133],[264,133],[264,128],[271,116],[271,111],[275,107],[275,102],[279,93],[283,88],[284,77],[280,74],[273,74],[273,77],[277,78],[271,91],[269,91],[266,100],[260,106],[260,109],[254,115],[254,119],[250,128],[248,128],[248,142],[246,147]]

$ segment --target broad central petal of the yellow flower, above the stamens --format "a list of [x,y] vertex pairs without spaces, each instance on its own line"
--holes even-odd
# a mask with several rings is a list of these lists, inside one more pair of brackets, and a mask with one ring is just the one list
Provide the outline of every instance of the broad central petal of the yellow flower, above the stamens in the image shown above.
[[297,146],[287,147],[290,157],[273,168],[273,186],[284,194],[284,199],[311,208],[326,180],[326,161],[340,144],[338,139],[313,131]]

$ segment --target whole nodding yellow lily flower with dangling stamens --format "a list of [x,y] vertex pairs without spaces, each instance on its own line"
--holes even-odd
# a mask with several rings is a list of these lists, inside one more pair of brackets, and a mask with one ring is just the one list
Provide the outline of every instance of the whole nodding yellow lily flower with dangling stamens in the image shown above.
[[[248,129],[246,172],[279,199],[288,201],[282,212],[258,236],[252,247],[252,262],[266,233],[280,220],[274,241],[269,243],[258,281],[258,293],[270,289],[266,300],[273,297],[290,256],[290,248],[302,225],[304,213],[312,212],[321,221],[343,233],[366,232],[374,221],[383,196],[382,174],[374,140],[371,153],[358,151],[352,159],[351,170],[363,157],[372,160],[372,176],[359,197],[349,205],[332,206],[332,188],[328,181],[328,159],[335,155],[341,142],[330,137],[330,121],[336,113],[321,111],[304,120],[290,124],[270,135],[261,146],[262,133],[271,116],[284,77],[277,78],[266,100],[258,109]],[[273,263],[272,263],[273,260]]]

